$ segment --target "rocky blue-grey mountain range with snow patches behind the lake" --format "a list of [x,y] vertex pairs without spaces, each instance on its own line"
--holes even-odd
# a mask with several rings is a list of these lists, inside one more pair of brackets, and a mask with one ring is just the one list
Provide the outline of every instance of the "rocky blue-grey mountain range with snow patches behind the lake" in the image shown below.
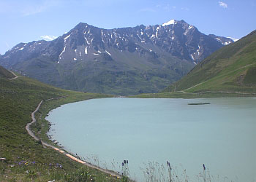
[[79,23],[53,41],[16,45],[0,64],[68,90],[159,92],[233,42],[218,37],[206,36],[184,20],[110,30]]

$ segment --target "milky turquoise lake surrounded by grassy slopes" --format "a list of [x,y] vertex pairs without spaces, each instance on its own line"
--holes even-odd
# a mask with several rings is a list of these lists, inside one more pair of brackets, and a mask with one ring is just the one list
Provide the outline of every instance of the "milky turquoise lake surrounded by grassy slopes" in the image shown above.
[[163,164],[167,178],[166,161],[182,181],[184,170],[202,181],[203,164],[211,181],[256,181],[256,98],[92,99],[46,119],[64,149],[119,173],[128,159],[136,181],[146,181],[149,163]]

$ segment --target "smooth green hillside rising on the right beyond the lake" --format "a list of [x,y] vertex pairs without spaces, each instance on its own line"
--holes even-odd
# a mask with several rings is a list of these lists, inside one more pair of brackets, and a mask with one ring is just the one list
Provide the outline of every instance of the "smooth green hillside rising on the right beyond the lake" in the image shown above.
[[163,92],[256,93],[256,31],[222,47]]

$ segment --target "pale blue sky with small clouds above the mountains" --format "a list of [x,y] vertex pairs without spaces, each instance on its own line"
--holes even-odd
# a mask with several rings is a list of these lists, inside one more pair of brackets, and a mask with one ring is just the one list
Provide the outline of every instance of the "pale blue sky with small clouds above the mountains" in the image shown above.
[[54,39],[80,22],[99,28],[185,20],[202,33],[241,38],[256,29],[256,0],[1,0],[0,53]]

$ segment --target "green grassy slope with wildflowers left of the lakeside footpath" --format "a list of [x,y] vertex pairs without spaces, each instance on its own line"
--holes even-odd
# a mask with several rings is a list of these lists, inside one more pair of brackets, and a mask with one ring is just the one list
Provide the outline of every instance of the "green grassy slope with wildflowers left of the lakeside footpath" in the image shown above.
[[[10,80],[0,76],[0,158],[6,159],[0,160],[0,181],[117,181],[73,162],[53,149],[44,148],[26,132],[31,112],[40,100],[60,96],[66,98],[43,103],[37,120],[44,120],[42,116],[61,104],[109,95],[60,90],[26,77]],[[39,123],[33,126],[39,132],[37,135],[42,135],[48,128],[46,122],[42,124],[47,126]]]

